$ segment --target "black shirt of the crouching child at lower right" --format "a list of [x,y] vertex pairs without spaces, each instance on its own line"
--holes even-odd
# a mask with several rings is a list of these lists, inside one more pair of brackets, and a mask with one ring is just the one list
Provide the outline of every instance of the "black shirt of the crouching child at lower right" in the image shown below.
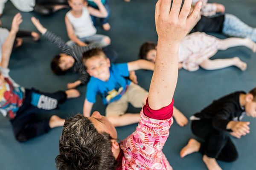
[[212,126],[215,129],[226,130],[228,122],[241,120],[243,117],[244,108],[239,103],[240,94],[245,94],[245,92],[237,91],[215,100],[194,116],[200,119],[212,119]]

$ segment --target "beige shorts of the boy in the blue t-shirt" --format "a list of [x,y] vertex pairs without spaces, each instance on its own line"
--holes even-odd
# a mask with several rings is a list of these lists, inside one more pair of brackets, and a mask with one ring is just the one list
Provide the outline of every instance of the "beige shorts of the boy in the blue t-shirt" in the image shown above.
[[111,102],[106,108],[106,116],[119,116],[125,114],[128,103],[134,108],[142,108],[145,105],[146,99],[148,97],[148,91],[145,91],[139,85],[131,84],[125,91],[125,94],[117,101]]

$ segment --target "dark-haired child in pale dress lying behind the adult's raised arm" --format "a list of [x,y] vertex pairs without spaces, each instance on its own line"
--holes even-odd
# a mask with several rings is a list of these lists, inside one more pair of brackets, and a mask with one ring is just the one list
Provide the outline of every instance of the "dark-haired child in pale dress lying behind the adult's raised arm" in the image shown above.
[[[181,42],[179,48],[179,68],[187,71],[196,71],[199,66],[206,70],[216,70],[230,66],[236,66],[241,71],[245,71],[247,64],[238,57],[230,59],[213,59],[218,50],[226,50],[230,47],[243,45],[256,52],[256,43],[248,38],[227,38],[218,39],[211,35],[195,32],[187,35]],[[157,45],[153,42],[145,42],[140,47],[139,57],[151,62],[155,62]]]

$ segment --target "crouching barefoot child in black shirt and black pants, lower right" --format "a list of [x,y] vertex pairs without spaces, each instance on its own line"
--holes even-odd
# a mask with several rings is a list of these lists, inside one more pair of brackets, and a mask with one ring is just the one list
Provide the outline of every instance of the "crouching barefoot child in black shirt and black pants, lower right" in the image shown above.
[[241,121],[245,114],[256,117],[256,88],[249,93],[237,91],[213,101],[190,118],[192,132],[200,142],[190,139],[180,156],[200,152],[209,170],[221,170],[216,160],[235,161],[238,153],[229,133],[239,139],[250,133],[250,122]]

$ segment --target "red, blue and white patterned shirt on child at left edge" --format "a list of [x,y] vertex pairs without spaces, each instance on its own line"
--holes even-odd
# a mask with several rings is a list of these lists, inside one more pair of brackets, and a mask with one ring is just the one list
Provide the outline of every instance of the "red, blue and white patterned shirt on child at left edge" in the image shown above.
[[0,72],[4,77],[3,85],[0,87],[0,112],[3,116],[14,119],[16,112],[23,104],[25,90],[9,77],[8,68],[0,67]]

